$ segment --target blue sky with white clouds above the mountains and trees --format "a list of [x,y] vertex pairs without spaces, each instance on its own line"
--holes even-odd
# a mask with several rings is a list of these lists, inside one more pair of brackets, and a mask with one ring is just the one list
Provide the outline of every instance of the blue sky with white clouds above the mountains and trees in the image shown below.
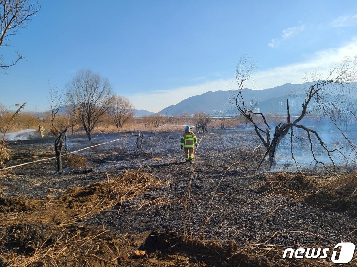
[[[257,89],[303,82],[307,70],[357,55],[356,1],[39,0],[41,11],[1,48],[26,61],[0,74],[0,103],[48,109],[48,84],[77,70],[108,78],[137,109],[159,111],[234,88],[236,61],[261,66]],[[247,85],[247,87],[249,87]]]

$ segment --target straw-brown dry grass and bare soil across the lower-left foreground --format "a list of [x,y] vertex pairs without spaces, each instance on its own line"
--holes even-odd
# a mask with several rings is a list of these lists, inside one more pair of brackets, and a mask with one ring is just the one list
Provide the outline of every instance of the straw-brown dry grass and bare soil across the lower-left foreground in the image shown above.
[[174,232],[114,234],[104,227],[81,224],[85,218],[118,204],[120,212],[123,201],[161,186],[165,183],[145,173],[131,171],[114,179],[108,176],[104,182],[71,188],[63,191],[59,198],[52,195],[42,199],[0,197],[0,215],[4,220],[0,230],[0,264],[68,267],[276,265],[275,261],[256,255],[254,247],[242,249],[214,241],[185,241]]

